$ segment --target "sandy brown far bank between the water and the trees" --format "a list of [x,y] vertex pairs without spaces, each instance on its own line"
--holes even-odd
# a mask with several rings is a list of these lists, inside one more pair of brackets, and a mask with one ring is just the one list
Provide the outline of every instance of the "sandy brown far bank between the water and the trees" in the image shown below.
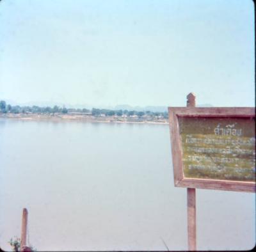
[[0,113],[0,118],[8,118],[22,121],[51,121],[51,122],[98,122],[98,123],[148,123],[168,124],[167,119],[145,120],[143,118],[122,118],[122,116],[84,116],[74,114],[23,114]]

